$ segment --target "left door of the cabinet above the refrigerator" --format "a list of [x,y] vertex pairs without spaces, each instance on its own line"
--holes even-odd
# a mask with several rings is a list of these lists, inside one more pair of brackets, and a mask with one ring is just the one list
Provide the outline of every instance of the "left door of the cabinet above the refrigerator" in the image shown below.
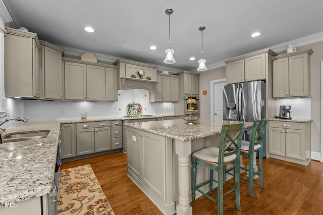
[[244,59],[227,64],[227,84],[241,83],[244,80]]

